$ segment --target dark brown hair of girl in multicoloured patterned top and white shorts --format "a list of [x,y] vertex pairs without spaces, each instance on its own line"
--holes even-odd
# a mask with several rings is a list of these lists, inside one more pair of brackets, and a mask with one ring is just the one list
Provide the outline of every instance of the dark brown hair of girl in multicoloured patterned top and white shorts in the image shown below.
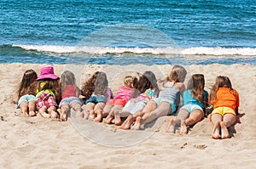
[[159,87],[157,85],[157,80],[152,71],[145,71],[142,76],[139,77],[137,82],[137,90],[134,97],[137,97],[140,93],[144,93],[148,88],[154,89],[155,95],[159,94]]

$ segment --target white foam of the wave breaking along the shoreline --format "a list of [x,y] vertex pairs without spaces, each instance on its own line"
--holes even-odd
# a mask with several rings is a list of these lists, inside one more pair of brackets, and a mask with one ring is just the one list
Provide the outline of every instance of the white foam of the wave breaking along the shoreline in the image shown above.
[[87,53],[87,54],[171,54],[171,55],[241,55],[256,56],[256,48],[110,48],[89,46],[52,46],[52,45],[13,45],[26,50],[36,50],[45,53]]

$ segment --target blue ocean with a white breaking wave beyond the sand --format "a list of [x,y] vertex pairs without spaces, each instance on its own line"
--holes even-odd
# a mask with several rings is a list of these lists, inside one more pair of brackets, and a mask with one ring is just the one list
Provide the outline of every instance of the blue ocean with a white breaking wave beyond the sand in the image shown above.
[[255,0],[0,0],[0,63],[256,65]]

